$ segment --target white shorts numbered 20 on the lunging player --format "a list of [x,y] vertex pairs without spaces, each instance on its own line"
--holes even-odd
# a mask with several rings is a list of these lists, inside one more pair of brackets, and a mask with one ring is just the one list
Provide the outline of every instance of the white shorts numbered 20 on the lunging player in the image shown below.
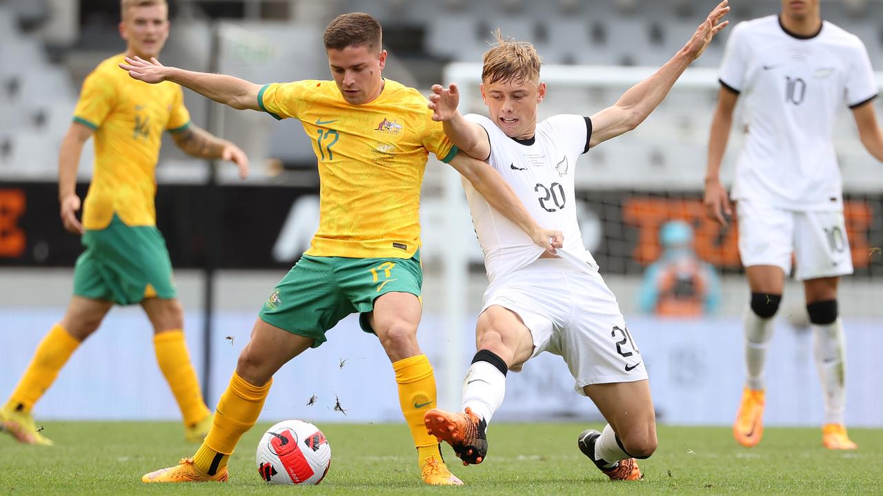
[[533,337],[532,357],[548,351],[564,358],[580,395],[590,384],[647,379],[616,297],[592,268],[537,259],[487,288],[481,312],[494,304],[525,322]]

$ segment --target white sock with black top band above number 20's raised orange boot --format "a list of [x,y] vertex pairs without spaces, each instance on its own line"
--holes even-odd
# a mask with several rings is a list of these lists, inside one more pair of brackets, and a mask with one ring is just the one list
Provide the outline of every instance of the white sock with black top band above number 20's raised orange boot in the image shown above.
[[506,395],[506,363],[487,349],[481,349],[472,358],[472,365],[463,380],[463,408],[490,423],[494,411],[502,405]]

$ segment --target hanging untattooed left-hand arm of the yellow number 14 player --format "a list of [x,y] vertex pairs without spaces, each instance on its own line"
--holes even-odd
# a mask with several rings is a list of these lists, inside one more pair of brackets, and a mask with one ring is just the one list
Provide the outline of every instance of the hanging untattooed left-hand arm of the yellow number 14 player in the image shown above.
[[83,224],[77,219],[80,201],[77,196],[77,169],[83,145],[92,136],[92,129],[79,123],[71,123],[64,133],[58,154],[58,202],[61,204],[61,223],[74,234],[83,234]]

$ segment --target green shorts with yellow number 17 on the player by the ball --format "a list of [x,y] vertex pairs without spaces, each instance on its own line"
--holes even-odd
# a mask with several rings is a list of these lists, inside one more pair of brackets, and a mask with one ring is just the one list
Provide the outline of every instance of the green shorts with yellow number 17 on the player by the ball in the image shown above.
[[366,312],[387,293],[420,297],[423,270],[419,252],[411,259],[348,259],[304,255],[270,295],[260,319],[291,334],[313,338],[313,348],[328,341],[325,333],[347,315],[359,312],[358,322],[374,333]]

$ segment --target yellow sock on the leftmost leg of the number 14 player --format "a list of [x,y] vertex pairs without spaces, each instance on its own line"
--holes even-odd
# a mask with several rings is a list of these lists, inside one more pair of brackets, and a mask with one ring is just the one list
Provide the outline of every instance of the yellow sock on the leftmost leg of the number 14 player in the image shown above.
[[29,412],[34,403],[52,386],[58,377],[58,371],[67,363],[74,350],[79,347],[71,334],[67,334],[60,324],[52,326],[49,334],[43,338],[31,363],[19,380],[19,385],[12,391],[6,408]]

